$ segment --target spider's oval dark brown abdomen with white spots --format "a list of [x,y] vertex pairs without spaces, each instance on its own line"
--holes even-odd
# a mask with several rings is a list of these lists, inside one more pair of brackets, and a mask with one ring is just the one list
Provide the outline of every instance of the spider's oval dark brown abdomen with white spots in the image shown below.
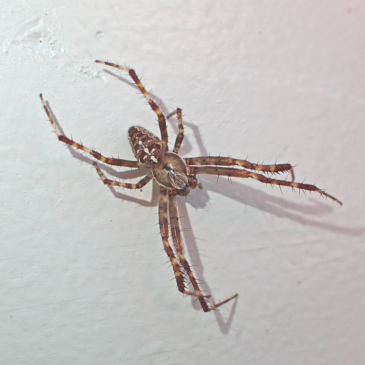
[[140,126],[128,130],[129,143],[135,158],[147,167],[157,164],[163,153],[162,141],[153,133]]

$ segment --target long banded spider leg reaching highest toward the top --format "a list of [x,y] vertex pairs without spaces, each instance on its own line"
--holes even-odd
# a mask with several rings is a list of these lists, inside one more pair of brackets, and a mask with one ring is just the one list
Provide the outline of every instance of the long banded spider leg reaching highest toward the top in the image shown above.
[[166,128],[166,120],[165,120],[164,114],[161,111],[161,109],[159,108],[159,106],[153,101],[153,99],[151,98],[149,93],[146,91],[145,87],[142,85],[141,80],[138,78],[135,71],[133,69],[130,69],[129,67],[120,66],[120,65],[117,65],[117,64],[111,63],[111,62],[100,61],[100,60],[96,60],[95,62],[101,63],[101,64],[106,65],[106,66],[115,67],[116,69],[123,70],[123,71],[126,71],[126,72],[129,73],[129,76],[133,79],[133,81],[138,86],[139,90],[145,96],[145,98],[146,98],[148,104],[150,105],[151,109],[156,113],[157,120],[158,120],[159,127],[160,127],[160,131],[161,131],[161,140],[162,140],[162,143],[164,144],[165,151],[168,151],[167,128]]

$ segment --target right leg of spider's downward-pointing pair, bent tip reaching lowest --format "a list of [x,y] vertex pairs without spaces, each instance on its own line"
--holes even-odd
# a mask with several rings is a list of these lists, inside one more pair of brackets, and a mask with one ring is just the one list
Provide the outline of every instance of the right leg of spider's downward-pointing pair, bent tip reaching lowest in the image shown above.
[[183,255],[183,243],[180,236],[180,227],[179,227],[179,219],[178,219],[178,210],[176,205],[176,195],[174,193],[169,194],[169,205],[168,210],[170,214],[170,225],[171,225],[171,234],[172,239],[174,241],[174,246],[176,249],[176,253],[178,255],[180,264],[183,266],[186,274],[188,275],[191,284],[193,285],[194,292],[188,292],[190,295],[195,295],[199,299],[201,304],[201,308],[204,312],[209,312],[211,310],[215,310],[220,307],[222,304],[227,303],[231,299],[235,298],[237,294],[231,296],[230,298],[223,300],[211,307],[208,306],[207,300],[205,299],[203,293],[201,292],[197,280],[194,277],[193,272],[191,271],[190,265],[187,262],[185,256]]

